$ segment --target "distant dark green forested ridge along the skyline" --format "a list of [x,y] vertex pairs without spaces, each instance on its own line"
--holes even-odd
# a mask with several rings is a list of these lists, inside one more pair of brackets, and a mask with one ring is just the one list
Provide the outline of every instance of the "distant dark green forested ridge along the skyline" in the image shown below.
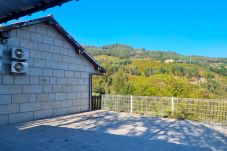
[[164,62],[174,60],[174,62],[190,63],[209,68],[219,74],[227,76],[227,58],[211,58],[205,56],[185,56],[173,51],[136,49],[124,44],[112,44],[103,47],[84,46],[93,56],[107,55],[121,59],[153,59]]

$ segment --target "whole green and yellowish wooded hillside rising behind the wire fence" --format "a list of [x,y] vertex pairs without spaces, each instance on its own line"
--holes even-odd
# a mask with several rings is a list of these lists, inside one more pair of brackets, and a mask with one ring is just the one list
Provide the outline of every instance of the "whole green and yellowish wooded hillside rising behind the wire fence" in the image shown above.
[[93,91],[106,94],[227,97],[227,58],[184,56],[127,45],[85,46],[107,70]]

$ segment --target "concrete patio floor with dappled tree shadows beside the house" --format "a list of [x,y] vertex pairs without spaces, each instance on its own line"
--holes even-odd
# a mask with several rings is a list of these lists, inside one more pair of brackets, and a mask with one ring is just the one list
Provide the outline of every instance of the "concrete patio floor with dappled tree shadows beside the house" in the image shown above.
[[95,111],[0,127],[0,151],[227,151],[227,129]]

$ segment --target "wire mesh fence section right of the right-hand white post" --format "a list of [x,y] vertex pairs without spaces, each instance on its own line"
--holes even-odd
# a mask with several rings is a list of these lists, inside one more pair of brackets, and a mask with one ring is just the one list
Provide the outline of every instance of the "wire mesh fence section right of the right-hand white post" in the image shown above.
[[[184,119],[227,124],[227,101],[175,98],[176,116]],[[179,118],[179,117],[177,117]]]

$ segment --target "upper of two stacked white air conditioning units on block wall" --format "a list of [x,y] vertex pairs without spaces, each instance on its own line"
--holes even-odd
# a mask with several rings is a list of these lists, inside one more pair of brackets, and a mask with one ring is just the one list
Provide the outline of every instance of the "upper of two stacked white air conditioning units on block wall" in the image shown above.
[[12,48],[12,59],[27,60],[28,59],[28,49]]

